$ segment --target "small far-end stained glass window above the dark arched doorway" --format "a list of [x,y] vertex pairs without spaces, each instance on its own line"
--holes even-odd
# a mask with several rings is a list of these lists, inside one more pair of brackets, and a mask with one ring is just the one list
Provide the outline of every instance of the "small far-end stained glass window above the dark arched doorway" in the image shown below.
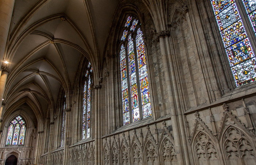
[[5,145],[24,145],[25,133],[26,123],[19,115],[9,124]]

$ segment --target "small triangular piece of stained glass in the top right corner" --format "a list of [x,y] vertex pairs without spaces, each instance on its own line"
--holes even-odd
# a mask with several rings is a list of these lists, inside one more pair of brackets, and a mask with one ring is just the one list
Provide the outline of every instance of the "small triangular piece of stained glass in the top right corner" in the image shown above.
[[253,30],[256,32],[256,0],[243,0],[243,2]]

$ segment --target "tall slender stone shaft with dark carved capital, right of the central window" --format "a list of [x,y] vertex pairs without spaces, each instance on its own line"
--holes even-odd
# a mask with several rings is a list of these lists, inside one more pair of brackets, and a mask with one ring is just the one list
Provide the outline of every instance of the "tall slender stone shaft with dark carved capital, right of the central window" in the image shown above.
[[180,140],[180,131],[179,131],[176,107],[175,107],[175,103],[174,103],[172,82],[171,82],[170,71],[169,71],[169,63],[168,63],[165,40],[164,40],[165,36],[169,36],[169,35],[170,35],[170,33],[167,30],[160,31],[157,33],[157,36],[159,38],[161,54],[162,54],[165,82],[166,82],[167,94],[168,94],[168,99],[169,99],[169,104],[170,104],[169,108],[170,108],[170,114],[172,117],[173,136],[174,136],[178,164],[184,165],[182,146],[181,146],[181,140]]

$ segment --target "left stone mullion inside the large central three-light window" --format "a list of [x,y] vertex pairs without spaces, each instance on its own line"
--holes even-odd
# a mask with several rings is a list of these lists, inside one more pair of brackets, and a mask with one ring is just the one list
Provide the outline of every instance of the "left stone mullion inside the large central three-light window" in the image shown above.
[[130,85],[130,72],[129,72],[129,56],[128,56],[128,45],[125,49],[125,58],[126,58],[126,71],[127,71],[127,87],[128,87],[128,99],[129,99],[129,115],[130,115],[130,123],[132,123],[132,97],[131,97],[131,85]]

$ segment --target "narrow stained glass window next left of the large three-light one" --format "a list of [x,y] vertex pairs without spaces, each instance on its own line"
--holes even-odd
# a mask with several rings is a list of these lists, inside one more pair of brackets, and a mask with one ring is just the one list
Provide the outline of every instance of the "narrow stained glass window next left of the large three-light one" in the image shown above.
[[86,80],[84,82],[83,90],[83,139],[90,137],[92,72],[93,68],[91,67],[91,63],[89,62],[85,74]]

